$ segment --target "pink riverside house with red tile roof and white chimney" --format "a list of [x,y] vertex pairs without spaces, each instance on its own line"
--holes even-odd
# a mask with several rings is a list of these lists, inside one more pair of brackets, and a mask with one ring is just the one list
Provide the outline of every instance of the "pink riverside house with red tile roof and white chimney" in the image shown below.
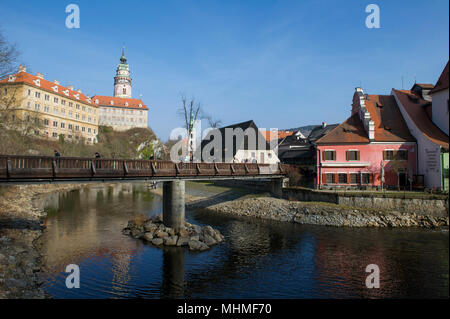
[[[417,145],[392,95],[356,88],[351,116],[316,141],[318,186],[406,186],[416,174]],[[417,176],[414,176],[417,179]]]

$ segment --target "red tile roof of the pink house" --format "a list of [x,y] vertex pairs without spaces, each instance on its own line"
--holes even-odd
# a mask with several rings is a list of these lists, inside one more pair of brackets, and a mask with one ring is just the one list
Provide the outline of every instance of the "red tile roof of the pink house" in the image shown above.
[[[354,101],[356,100],[354,98]],[[409,132],[393,96],[368,95],[365,105],[375,124],[375,142],[416,141]],[[358,144],[369,142],[369,136],[358,112],[316,141],[317,144]]]

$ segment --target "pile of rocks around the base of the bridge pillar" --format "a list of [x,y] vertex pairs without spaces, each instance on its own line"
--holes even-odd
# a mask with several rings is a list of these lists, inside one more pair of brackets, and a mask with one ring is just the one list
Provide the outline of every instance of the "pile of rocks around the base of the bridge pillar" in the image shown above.
[[211,226],[201,227],[185,222],[179,230],[166,227],[161,215],[145,220],[130,220],[122,232],[154,246],[186,246],[196,251],[207,250],[225,239],[219,230]]

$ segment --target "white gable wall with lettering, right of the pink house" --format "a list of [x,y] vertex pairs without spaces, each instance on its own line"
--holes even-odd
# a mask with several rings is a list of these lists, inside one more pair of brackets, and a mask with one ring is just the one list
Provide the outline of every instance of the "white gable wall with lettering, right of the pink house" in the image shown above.
[[[393,95],[395,96],[395,94]],[[397,99],[397,96],[395,96],[395,100],[397,101],[397,105],[399,106],[400,112],[405,119],[409,131],[417,140],[417,150],[415,151],[418,152],[418,174],[424,175],[425,187],[441,187],[440,146],[433,143],[431,140],[426,138],[425,135],[423,135],[422,131],[417,128],[416,124],[412,121],[411,117],[404,109],[403,105]]]

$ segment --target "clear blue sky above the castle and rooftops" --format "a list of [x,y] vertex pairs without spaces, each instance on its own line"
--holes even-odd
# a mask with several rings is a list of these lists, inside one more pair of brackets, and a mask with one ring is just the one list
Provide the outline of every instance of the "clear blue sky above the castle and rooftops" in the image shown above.
[[[70,3],[80,28],[66,27]],[[380,28],[365,24],[372,3]],[[355,87],[389,94],[415,79],[434,84],[449,59],[448,0],[0,0],[0,8],[1,32],[31,73],[91,96],[113,94],[125,46],[133,97],[164,141],[183,126],[182,94],[223,125],[340,123]]]

